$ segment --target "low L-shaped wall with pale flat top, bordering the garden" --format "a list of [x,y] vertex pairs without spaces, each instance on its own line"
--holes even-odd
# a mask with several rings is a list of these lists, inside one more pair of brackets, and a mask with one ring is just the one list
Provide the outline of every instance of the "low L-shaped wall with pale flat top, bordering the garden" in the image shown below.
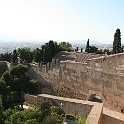
[[38,96],[25,94],[25,101],[34,105],[42,105],[44,102],[49,101],[51,104],[56,104],[61,107],[65,113],[87,118],[86,124],[100,124],[101,122],[102,103],[57,97],[47,94]]

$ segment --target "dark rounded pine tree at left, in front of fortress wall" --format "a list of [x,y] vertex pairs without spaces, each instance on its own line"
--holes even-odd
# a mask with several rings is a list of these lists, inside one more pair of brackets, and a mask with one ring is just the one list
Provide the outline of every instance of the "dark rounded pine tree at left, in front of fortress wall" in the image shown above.
[[[5,108],[13,106],[15,103],[23,105],[23,94],[33,94],[37,90],[35,80],[30,80],[26,76],[28,67],[19,64],[4,72],[0,80],[0,95]],[[23,109],[23,108],[22,108]]]

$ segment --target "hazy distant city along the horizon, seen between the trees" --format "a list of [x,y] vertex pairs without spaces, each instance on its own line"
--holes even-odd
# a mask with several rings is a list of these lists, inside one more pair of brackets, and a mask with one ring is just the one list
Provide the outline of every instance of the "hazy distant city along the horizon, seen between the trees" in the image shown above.
[[[69,42],[69,41],[68,41]],[[10,53],[13,52],[13,50],[18,49],[18,48],[24,48],[28,47],[31,50],[40,48],[43,44],[46,42],[0,42],[0,53]],[[72,44],[73,48],[78,47],[85,49],[86,47],[86,41],[78,40],[78,41],[70,41],[69,43]],[[96,46],[99,49],[112,49],[112,44],[102,44],[100,42],[95,42],[93,41],[91,45]]]

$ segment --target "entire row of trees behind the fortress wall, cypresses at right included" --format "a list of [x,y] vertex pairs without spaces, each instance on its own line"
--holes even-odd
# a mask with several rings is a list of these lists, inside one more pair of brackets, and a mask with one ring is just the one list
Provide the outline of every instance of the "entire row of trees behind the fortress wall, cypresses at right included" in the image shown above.
[[[21,63],[31,63],[31,62],[39,62],[46,64],[52,61],[53,56],[59,51],[73,51],[72,45],[68,42],[57,43],[50,40],[48,43],[45,43],[40,48],[36,48],[33,51],[30,48],[18,48],[15,49],[12,53],[1,53],[0,61],[8,61],[13,60],[14,63],[17,63],[17,58],[20,57]],[[78,51],[78,47],[76,49]],[[82,49],[81,49],[82,51]],[[120,29],[117,29],[114,34],[113,41],[113,50],[109,49],[98,49],[95,46],[89,45],[89,39],[86,44],[85,52],[88,53],[96,53],[96,54],[116,54],[123,52],[121,46],[121,32]]]

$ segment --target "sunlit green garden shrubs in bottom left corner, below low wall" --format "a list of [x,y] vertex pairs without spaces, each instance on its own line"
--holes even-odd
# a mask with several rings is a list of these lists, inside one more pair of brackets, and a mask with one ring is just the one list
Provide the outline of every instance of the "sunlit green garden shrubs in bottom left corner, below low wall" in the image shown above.
[[[46,105],[48,105],[46,103]],[[0,124],[62,124],[63,119],[60,109],[57,106],[47,106],[49,110],[42,112],[42,109],[21,110],[19,107],[8,108],[1,112]],[[46,108],[44,108],[46,109]],[[45,115],[45,116],[44,116]]]

